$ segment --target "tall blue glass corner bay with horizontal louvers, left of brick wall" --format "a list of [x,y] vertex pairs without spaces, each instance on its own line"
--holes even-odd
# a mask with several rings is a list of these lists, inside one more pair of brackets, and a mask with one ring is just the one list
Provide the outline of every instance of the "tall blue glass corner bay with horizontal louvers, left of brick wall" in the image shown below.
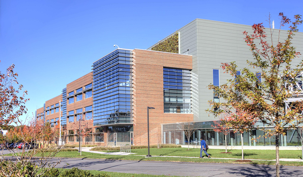
[[132,124],[132,51],[115,50],[93,63],[94,126]]

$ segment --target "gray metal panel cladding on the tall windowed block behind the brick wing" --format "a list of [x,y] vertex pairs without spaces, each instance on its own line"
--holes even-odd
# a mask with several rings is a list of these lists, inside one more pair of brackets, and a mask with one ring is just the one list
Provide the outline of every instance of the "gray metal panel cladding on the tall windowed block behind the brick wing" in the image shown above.
[[[212,69],[220,69],[221,85],[226,83],[227,79],[232,79],[231,76],[223,73],[221,63],[235,61],[239,68],[248,67],[246,60],[253,58],[242,32],[251,33],[251,26],[196,19],[178,31],[181,32],[181,53],[190,49],[188,54],[193,56],[194,119],[195,121],[213,121],[214,117],[205,111],[210,108],[208,100],[213,100],[213,91],[207,88],[213,82]],[[269,29],[266,31],[269,32]],[[273,32],[273,38],[277,38],[278,30],[274,29]],[[280,34],[283,38],[286,36],[286,31],[281,31]],[[303,33],[296,33],[293,46],[301,53],[302,44]],[[300,61],[298,59],[293,62],[294,65],[298,64]]]

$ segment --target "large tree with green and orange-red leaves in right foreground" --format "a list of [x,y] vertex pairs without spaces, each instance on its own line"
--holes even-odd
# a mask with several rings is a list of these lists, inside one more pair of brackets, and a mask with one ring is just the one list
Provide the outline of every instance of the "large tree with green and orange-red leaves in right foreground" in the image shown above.
[[[297,25],[302,24],[301,15],[295,15],[294,21],[283,13],[279,16],[280,29],[270,29],[269,39],[262,24],[252,25],[252,34],[243,32],[253,56],[252,61],[247,61],[252,69],[239,69],[235,62],[222,63],[224,72],[235,79],[228,80],[220,87],[209,85],[209,89],[214,89],[223,99],[220,103],[209,101],[212,108],[220,107],[219,111],[208,109],[215,116],[228,114],[225,123],[230,127],[236,128],[242,124],[246,129],[264,131],[265,137],[275,136],[276,176],[280,175],[279,136],[303,123],[303,102],[294,101],[291,109],[285,109],[285,102],[293,95],[301,93],[300,89],[290,89],[296,85],[296,76],[303,66],[301,59],[295,67],[292,66],[300,53],[291,45],[291,40],[298,31]],[[290,24],[289,30],[285,39],[280,41],[281,27],[285,24]],[[276,41],[272,38],[274,34],[278,35]],[[241,75],[238,75],[238,71],[241,71]],[[239,114],[242,111],[243,115]]]

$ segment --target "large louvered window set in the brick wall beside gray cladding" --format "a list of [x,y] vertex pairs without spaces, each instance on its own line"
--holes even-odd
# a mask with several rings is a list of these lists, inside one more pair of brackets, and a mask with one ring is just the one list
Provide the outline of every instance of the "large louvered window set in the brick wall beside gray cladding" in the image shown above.
[[164,112],[191,113],[191,73],[163,68]]

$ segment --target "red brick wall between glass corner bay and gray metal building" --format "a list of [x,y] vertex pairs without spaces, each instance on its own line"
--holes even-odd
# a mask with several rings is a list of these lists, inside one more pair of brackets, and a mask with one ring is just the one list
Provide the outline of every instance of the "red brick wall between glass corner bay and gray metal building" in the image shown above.
[[193,114],[164,113],[163,67],[192,69],[192,56],[133,50],[134,144],[147,145],[147,107],[150,144],[161,142],[161,124],[193,121]]

